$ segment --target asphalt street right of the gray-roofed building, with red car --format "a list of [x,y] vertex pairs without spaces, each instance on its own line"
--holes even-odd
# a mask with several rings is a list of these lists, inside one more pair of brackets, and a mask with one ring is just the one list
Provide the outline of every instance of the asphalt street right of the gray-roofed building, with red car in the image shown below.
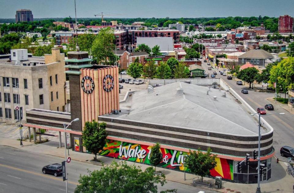
[[[208,70],[209,65],[203,62],[202,67],[206,72],[212,74],[213,71],[219,71],[217,69]],[[285,113],[285,115],[269,115],[263,117],[274,129],[273,132],[273,147],[275,148],[275,155],[279,160],[287,161],[286,157],[281,157],[280,148],[282,146],[294,147],[294,119],[293,114],[280,107],[280,103],[276,104],[267,100],[266,98],[274,98],[275,93],[272,92],[256,92],[254,90],[248,90],[248,94],[241,93],[242,89],[248,89],[249,86],[236,85],[236,81],[228,80],[227,76],[217,74],[216,78],[222,78],[232,89],[234,89],[253,109],[258,107],[264,107],[266,104],[273,104],[275,110],[267,111],[267,113]],[[244,84],[244,83],[243,83]],[[256,90],[256,89],[255,89]],[[283,96],[283,94],[281,95]],[[258,125],[256,126],[258,129]]]

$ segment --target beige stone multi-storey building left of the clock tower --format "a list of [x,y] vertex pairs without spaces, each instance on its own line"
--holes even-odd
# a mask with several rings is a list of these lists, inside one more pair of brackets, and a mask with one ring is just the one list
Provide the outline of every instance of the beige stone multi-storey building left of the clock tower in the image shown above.
[[44,57],[11,50],[11,59],[0,59],[0,122],[25,120],[25,110],[32,108],[64,111],[64,66],[59,48]]

